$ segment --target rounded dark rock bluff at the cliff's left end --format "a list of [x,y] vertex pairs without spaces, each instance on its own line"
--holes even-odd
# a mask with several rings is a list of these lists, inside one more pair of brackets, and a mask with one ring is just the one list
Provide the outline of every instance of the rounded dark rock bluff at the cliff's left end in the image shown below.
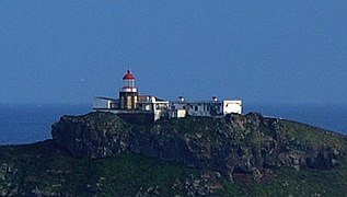
[[55,141],[74,157],[105,158],[128,150],[131,127],[118,116],[93,113],[85,116],[62,116],[53,125]]

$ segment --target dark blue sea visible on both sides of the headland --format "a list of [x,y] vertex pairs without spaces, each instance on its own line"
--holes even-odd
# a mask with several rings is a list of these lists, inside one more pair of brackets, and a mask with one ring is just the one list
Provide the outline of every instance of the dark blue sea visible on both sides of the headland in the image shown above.
[[[50,139],[50,126],[62,115],[82,115],[91,111],[91,104],[1,104],[0,144],[33,143]],[[244,104],[243,113],[250,112],[347,134],[347,105]]]

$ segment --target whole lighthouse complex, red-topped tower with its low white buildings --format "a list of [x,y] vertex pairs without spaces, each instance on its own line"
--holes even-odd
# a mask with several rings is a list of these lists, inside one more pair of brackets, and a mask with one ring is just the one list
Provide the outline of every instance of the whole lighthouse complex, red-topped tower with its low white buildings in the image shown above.
[[[94,97],[94,111],[112,112],[124,117],[147,116],[152,120],[162,117],[183,118],[189,116],[224,116],[231,113],[242,113],[241,100],[186,102],[183,96],[178,101],[170,102],[153,95],[139,95],[135,85],[135,76],[127,70],[123,77],[123,88],[119,99]],[[143,119],[143,117],[140,117]],[[148,119],[148,118],[144,118]]]

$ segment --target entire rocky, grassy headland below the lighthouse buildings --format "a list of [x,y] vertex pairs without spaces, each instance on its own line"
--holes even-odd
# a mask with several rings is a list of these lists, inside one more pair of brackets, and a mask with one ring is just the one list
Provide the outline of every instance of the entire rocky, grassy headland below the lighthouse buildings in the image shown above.
[[63,116],[53,140],[0,147],[0,195],[335,195],[346,136],[261,114],[129,124]]

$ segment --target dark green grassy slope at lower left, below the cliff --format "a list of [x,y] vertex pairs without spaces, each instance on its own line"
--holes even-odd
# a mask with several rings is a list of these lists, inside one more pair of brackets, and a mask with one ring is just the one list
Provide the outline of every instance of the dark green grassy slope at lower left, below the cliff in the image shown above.
[[[141,189],[158,187],[167,195],[176,179],[198,176],[199,172],[138,154],[122,154],[100,160],[77,159],[53,141],[0,147],[3,179],[0,192],[72,196],[135,196]],[[10,169],[10,171],[9,171]],[[5,172],[8,171],[8,172]],[[1,193],[0,193],[1,195]]]

